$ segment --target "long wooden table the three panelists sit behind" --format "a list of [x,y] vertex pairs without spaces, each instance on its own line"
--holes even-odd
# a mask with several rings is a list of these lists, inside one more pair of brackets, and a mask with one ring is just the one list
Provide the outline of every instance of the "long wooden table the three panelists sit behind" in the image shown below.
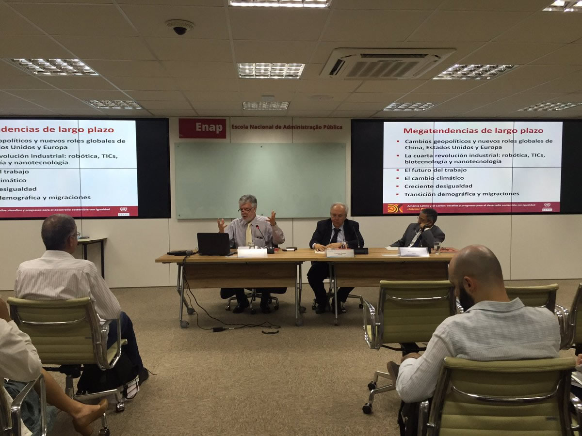
[[[376,287],[380,280],[442,280],[448,276],[451,254],[430,255],[428,258],[403,258],[395,251],[385,248],[370,248],[369,254],[354,258],[326,258],[315,254],[313,249],[277,251],[267,258],[239,259],[232,256],[184,256],[164,255],[155,259],[158,263],[176,263],[178,281],[176,291],[180,294],[180,327],[188,327],[183,319],[183,308],[191,315],[184,299],[184,281],[192,288],[261,288],[294,287],[295,323],[303,324],[301,313],[301,264],[308,261],[329,264],[332,289],[340,286]],[[386,256],[389,255],[389,256]],[[336,306],[338,299],[335,299]],[[338,324],[338,308],[335,308],[335,323]]]

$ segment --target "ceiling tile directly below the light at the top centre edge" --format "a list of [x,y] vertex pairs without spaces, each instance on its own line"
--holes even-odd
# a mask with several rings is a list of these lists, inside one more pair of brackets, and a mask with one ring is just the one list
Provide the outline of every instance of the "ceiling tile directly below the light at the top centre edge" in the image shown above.
[[317,41],[329,10],[229,8],[228,13],[233,40]]

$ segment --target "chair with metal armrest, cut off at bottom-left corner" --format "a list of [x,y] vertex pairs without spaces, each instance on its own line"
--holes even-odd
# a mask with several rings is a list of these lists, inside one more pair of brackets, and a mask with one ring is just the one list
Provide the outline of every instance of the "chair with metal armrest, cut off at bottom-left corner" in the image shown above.
[[[1,380],[1,383],[4,383],[4,380]],[[40,391],[38,396],[40,397],[41,436],[47,436],[47,392],[42,374],[36,380],[27,383],[11,404],[8,403],[5,392],[0,389],[0,436],[22,436],[20,427],[22,402],[30,392],[34,392],[33,388],[36,384]]]

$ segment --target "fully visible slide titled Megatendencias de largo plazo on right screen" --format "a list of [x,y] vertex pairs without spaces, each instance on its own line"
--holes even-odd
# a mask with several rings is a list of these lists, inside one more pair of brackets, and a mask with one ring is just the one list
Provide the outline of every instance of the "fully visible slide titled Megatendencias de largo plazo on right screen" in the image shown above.
[[386,121],[383,213],[559,213],[562,124]]

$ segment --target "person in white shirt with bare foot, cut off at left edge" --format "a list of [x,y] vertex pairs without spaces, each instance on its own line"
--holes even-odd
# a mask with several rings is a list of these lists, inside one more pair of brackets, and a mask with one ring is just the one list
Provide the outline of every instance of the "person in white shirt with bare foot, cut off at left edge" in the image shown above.
[[[107,400],[103,399],[98,405],[89,405],[67,396],[55,379],[42,369],[36,348],[30,342],[29,335],[20,331],[15,322],[10,319],[8,306],[0,298],[0,382],[2,383],[0,395],[8,395],[5,387],[17,387],[18,383],[15,381],[28,383],[36,380],[41,373],[44,376],[47,402],[72,416],[73,427],[78,433],[90,436],[93,431],[91,423],[105,412]],[[4,383],[5,378],[10,379],[8,384]],[[22,390],[22,387],[20,386],[17,390]],[[25,436],[36,434],[40,430],[40,410],[31,410],[36,409],[37,404],[40,407],[38,396],[36,399],[27,398],[31,408],[22,408],[24,422],[20,423],[22,434]],[[9,399],[9,402],[12,400]],[[38,414],[34,413],[34,416],[31,416],[30,412],[38,412]],[[49,414],[49,417],[52,417],[52,414]],[[52,419],[47,421],[47,425],[52,424]]]

